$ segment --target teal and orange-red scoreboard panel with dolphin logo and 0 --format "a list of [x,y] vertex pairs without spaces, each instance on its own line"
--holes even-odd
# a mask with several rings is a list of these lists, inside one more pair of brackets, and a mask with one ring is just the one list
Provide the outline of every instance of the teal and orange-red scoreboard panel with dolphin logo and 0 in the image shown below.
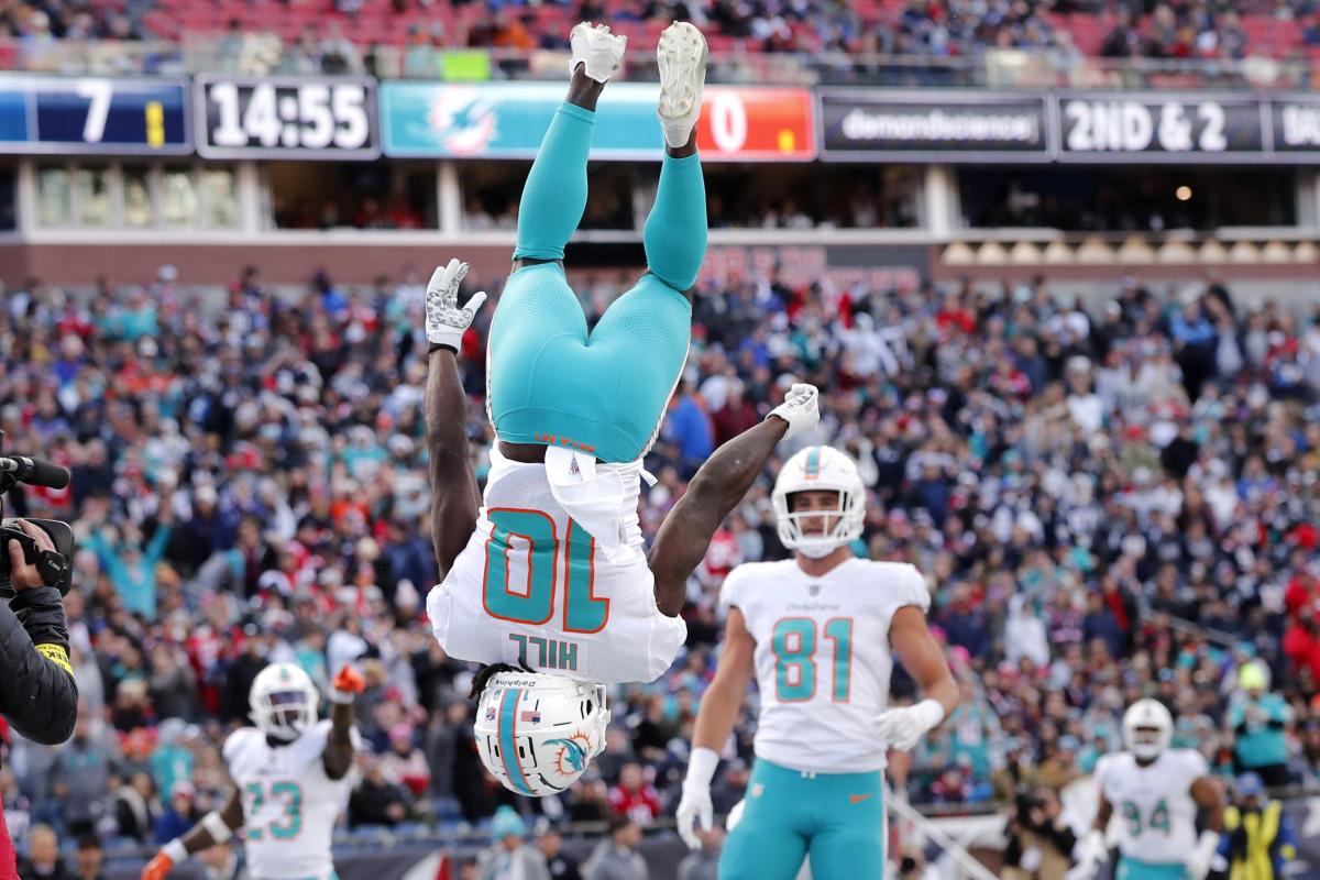
[[[611,83],[597,107],[591,157],[659,158],[656,83]],[[393,157],[532,158],[562,83],[387,82],[380,88],[384,153]],[[796,162],[816,157],[805,88],[708,86],[697,145],[705,161]]]

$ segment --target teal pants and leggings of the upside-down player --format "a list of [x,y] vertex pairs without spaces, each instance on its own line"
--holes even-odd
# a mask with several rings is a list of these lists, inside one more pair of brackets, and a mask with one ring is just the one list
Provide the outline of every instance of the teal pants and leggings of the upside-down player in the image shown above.
[[[562,104],[523,187],[513,259],[562,260],[586,208],[595,113]],[[487,409],[511,443],[565,446],[602,462],[640,458],[688,358],[706,253],[706,190],[696,156],[664,157],[643,236],[648,273],[587,332],[564,268],[524,267],[491,322]]]

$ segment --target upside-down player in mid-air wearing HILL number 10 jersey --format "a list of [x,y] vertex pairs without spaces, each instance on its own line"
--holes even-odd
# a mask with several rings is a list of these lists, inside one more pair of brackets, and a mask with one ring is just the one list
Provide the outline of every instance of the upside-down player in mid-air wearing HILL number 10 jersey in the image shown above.
[[705,40],[676,24],[657,53],[667,146],[644,235],[648,272],[587,332],[564,245],[586,204],[595,99],[623,38],[573,29],[573,82],[523,190],[513,273],[490,330],[487,410],[498,442],[484,499],[457,367],[484,294],[458,307],[467,267],[457,260],[428,290],[426,439],[442,583],[426,610],[450,656],[488,664],[474,687],[478,749],[520,794],[565,789],[603,747],[603,685],[652,681],[669,668],[686,637],[677,615],[688,577],[719,522],[776,443],[818,420],[816,389],[795,385],[771,417],[705,463],[645,554],[642,458],[686,359],[706,241],[696,154]]

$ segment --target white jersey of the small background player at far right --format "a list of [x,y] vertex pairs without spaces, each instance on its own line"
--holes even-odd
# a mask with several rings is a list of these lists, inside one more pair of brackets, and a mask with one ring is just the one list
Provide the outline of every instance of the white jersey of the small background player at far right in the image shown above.
[[1114,810],[1118,848],[1148,864],[1183,864],[1196,848],[1196,801],[1192,782],[1209,774],[1200,752],[1166,749],[1140,767],[1130,752],[1096,763],[1096,784]]

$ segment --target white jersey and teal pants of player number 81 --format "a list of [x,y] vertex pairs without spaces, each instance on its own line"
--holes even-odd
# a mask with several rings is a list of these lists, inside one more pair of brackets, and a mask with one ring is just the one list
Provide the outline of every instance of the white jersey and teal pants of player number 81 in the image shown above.
[[792,880],[810,859],[816,880],[884,876],[890,621],[929,608],[911,565],[849,559],[824,578],[797,562],[741,565],[721,604],[742,611],[756,640],[756,764],[721,880]]

